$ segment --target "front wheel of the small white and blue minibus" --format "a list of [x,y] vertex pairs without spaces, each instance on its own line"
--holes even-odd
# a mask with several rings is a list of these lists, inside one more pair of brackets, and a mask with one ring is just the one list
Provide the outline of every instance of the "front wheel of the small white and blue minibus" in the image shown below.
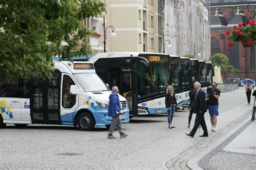
[[95,120],[89,113],[81,113],[77,118],[77,124],[82,131],[91,131],[95,126]]

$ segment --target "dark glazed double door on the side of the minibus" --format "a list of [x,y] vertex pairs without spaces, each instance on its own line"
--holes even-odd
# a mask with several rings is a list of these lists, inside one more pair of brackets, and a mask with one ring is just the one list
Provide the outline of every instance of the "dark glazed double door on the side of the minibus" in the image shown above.
[[30,113],[33,124],[61,124],[60,76],[55,71],[51,79],[35,78],[31,85]]

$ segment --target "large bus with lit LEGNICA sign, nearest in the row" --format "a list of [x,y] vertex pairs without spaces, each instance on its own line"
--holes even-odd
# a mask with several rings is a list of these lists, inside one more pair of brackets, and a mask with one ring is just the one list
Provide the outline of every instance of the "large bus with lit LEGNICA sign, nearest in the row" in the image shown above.
[[[110,86],[117,85],[127,99],[130,115],[166,113],[167,85],[173,85],[179,106],[181,62],[162,53],[109,52],[90,59],[97,74]],[[180,94],[179,94],[180,93]]]

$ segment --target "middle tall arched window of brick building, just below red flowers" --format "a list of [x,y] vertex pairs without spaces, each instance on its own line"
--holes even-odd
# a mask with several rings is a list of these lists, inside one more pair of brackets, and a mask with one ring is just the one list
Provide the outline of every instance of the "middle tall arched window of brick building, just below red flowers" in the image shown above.
[[239,43],[233,43],[232,47],[228,47],[228,57],[230,57],[230,65],[239,70]]

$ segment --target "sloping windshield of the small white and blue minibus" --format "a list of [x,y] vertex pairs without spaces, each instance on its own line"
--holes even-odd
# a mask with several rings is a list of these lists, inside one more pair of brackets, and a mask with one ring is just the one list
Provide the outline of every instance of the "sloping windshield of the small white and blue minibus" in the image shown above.
[[76,73],[73,76],[83,87],[85,92],[110,91],[96,73]]

